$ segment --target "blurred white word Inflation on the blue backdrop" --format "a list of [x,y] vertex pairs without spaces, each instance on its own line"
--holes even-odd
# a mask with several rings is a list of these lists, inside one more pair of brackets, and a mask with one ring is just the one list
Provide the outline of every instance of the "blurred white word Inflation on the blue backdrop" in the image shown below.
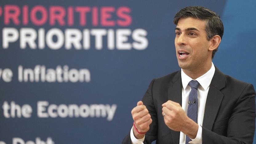
[[19,82],[90,82],[90,80],[88,69],[69,69],[67,65],[57,66],[56,69],[46,69],[44,65],[36,65],[34,69],[18,66]]

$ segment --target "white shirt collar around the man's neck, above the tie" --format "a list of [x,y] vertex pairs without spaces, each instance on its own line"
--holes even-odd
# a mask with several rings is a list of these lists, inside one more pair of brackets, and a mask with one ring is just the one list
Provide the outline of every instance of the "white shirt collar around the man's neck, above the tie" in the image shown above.
[[[202,76],[194,80],[198,81],[202,86],[202,88],[206,90],[210,86],[214,72],[215,72],[215,67],[212,63],[210,70],[208,70],[205,74],[203,74]],[[185,90],[186,87],[188,86],[188,83],[193,79],[190,78],[188,75],[186,75],[181,69],[181,80],[182,80],[183,89]]]

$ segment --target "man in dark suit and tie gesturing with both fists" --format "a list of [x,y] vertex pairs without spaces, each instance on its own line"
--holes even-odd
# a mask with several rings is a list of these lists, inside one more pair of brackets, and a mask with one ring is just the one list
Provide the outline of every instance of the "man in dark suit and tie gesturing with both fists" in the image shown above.
[[132,110],[134,126],[123,143],[252,143],[255,90],[212,63],[221,42],[218,15],[201,6],[174,17],[182,70],[154,79]]

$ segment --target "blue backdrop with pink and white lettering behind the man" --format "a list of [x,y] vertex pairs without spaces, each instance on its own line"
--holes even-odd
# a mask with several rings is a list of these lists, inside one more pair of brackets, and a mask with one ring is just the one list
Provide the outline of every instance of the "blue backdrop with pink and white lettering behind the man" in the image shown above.
[[224,24],[214,65],[255,87],[253,0],[1,1],[0,144],[121,143],[150,81],[180,69],[172,21],[196,5]]

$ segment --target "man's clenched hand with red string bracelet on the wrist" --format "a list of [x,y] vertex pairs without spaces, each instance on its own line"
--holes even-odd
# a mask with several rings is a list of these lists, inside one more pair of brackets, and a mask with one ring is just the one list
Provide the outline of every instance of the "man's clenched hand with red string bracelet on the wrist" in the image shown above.
[[[149,130],[149,125],[152,123],[151,116],[148,109],[143,105],[142,101],[137,103],[137,106],[132,109],[132,118],[134,120],[134,125],[140,133],[146,133]],[[139,134],[133,128],[133,134],[135,138],[141,139],[145,134]]]

